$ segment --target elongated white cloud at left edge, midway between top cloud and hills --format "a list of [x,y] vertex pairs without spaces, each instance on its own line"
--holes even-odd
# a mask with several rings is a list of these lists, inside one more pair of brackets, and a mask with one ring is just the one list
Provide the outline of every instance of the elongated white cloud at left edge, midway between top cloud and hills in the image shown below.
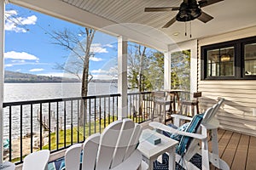
[[38,57],[26,52],[10,51],[4,54],[4,59],[27,59],[27,60],[39,60]]

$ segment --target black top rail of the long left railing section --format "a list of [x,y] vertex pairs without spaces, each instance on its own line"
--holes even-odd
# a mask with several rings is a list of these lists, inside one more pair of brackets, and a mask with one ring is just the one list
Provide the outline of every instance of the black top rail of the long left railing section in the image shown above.
[[43,103],[71,101],[71,100],[80,100],[80,99],[98,99],[98,98],[119,97],[119,96],[121,95],[120,94],[104,94],[104,95],[93,95],[93,96],[87,96],[87,97],[36,99],[36,100],[27,100],[27,101],[3,102],[3,107],[14,106],[14,105],[43,104]]

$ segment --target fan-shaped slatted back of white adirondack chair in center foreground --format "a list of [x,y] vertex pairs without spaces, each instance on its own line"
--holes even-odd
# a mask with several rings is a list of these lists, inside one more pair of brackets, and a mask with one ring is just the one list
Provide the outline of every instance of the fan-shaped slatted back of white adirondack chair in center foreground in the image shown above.
[[[142,127],[130,119],[115,121],[102,132],[91,135],[84,144],[74,144],[65,154],[67,170],[136,170],[141,168],[142,154],[137,150]],[[147,165],[143,163],[143,167]]]

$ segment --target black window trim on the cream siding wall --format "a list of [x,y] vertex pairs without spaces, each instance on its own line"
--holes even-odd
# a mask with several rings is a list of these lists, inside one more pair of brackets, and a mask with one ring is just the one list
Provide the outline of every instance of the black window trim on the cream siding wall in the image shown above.
[[[244,65],[244,50],[245,45],[256,43],[256,37],[246,37],[228,42],[219,42],[206,46],[201,46],[201,80],[256,80],[255,76],[246,76]],[[218,48],[235,48],[235,76],[226,77],[208,77],[207,76],[207,51]]]

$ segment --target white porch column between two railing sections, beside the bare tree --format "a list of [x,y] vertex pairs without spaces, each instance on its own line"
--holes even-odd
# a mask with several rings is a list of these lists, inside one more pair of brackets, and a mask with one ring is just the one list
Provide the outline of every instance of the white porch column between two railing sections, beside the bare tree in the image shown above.
[[118,37],[118,100],[119,120],[128,116],[127,99],[127,39]]

